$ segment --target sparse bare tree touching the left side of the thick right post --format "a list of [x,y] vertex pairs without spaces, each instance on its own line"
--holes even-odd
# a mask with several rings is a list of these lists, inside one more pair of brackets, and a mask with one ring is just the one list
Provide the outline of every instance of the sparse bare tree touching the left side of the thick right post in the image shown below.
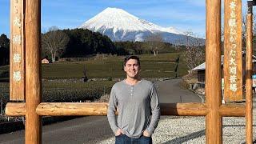
[[200,39],[191,31],[184,33],[186,35],[186,51],[182,54],[189,72],[205,60],[205,46]]

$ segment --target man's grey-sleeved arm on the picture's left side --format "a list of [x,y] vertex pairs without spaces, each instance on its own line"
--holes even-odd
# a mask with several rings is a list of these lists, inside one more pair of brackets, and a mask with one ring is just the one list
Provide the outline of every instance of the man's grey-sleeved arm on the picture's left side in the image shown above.
[[117,111],[118,101],[114,93],[114,86],[112,87],[111,93],[110,93],[110,102],[109,102],[109,108],[107,110],[107,119],[110,123],[110,127],[113,130],[114,134],[116,134],[118,130],[116,118],[115,118],[115,111]]

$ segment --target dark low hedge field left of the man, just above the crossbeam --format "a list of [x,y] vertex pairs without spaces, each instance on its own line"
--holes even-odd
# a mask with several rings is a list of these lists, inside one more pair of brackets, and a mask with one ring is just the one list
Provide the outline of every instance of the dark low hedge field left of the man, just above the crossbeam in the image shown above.
[[[42,102],[95,101],[110,94],[114,81],[42,82]],[[9,82],[0,82],[0,102],[3,108],[9,101]]]

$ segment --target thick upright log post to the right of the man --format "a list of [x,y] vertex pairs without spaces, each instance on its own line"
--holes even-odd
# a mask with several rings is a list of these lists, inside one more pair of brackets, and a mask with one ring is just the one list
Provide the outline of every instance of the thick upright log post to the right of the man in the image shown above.
[[221,0],[206,0],[206,143],[222,143]]

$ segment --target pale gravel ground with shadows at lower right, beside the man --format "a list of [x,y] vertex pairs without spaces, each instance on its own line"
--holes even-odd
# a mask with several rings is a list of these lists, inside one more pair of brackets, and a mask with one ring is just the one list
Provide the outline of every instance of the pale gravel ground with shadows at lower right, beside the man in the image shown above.
[[[256,112],[254,111],[254,140],[256,139]],[[245,143],[245,118],[223,118],[223,143]],[[153,135],[154,143],[206,143],[205,117],[162,116]],[[114,143],[114,137],[101,144]]]

